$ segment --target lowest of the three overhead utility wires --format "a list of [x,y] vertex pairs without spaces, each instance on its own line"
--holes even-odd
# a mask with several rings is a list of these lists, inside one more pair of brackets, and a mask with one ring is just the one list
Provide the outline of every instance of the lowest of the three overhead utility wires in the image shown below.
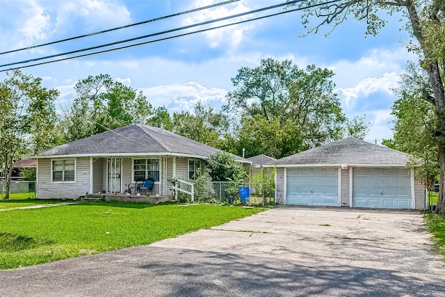
[[[303,0],[299,0],[299,1],[303,1]],[[60,61],[67,61],[67,60],[71,60],[71,59],[74,59],[74,58],[82,58],[82,57],[85,57],[85,56],[104,54],[104,53],[107,53],[107,52],[110,52],[110,51],[118,51],[120,49],[127,49],[127,48],[130,48],[130,47],[138,47],[140,45],[147,45],[147,44],[154,43],[154,42],[160,42],[160,41],[170,40],[170,39],[174,39],[174,38],[184,37],[186,35],[193,35],[193,34],[196,34],[196,33],[203,33],[203,32],[206,32],[206,31],[211,31],[211,30],[225,28],[227,26],[234,26],[234,25],[237,25],[237,24],[243,24],[243,23],[247,23],[247,22],[252,22],[252,21],[259,20],[259,19],[266,19],[268,17],[275,17],[277,15],[284,15],[286,13],[293,13],[293,12],[298,11],[298,10],[303,10],[303,9],[307,9],[307,8],[314,8],[314,7],[317,7],[317,6],[323,6],[325,4],[335,3],[335,2],[339,2],[339,1],[342,1],[342,0],[332,0],[332,1],[326,1],[326,2],[323,2],[323,3],[316,3],[316,4],[313,4],[313,5],[310,5],[310,6],[305,6],[305,7],[301,7],[301,8],[294,8],[292,10],[285,10],[285,11],[282,11],[281,13],[274,13],[274,14],[271,14],[271,15],[264,15],[264,16],[261,16],[261,17],[255,17],[253,19],[245,19],[243,21],[234,22],[234,23],[231,23],[231,24],[225,24],[225,25],[216,26],[216,27],[207,28],[207,29],[202,29],[202,30],[198,30],[198,31],[183,33],[183,34],[179,34],[179,35],[173,35],[173,36],[169,36],[169,37],[166,37],[166,38],[160,38],[160,39],[156,39],[156,40],[149,40],[149,41],[146,41],[146,42],[136,43],[134,45],[127,45],[127,46],[124,46],[124,47],[117,47],[117,48],[114,48],[114,49],[106,49],[106,50],[103,50],[103,51],[96,51],[96,52],[93,52],[93,53],[82,54],[82,55],[79,55],[79,56],[71,56],[71,57],[67,57],[67,58],[60,58],[58,60],[53,60],[53,61],[46,61],[46,62],[35,63],[35,64],[31,64],[31,65],[25,65],[25,66],[22,66],[22,67],[14,67],[14,68],[10,68],[8,70],[0,70],[0,72],[6,72],[6,71],[9,71],[9,70],[17,70],[17,69],[21,69],[21,68],[33,67],[33,66],[44,65],[44,64],[49,64],[49,63],[55,63],[55,62],[60,62]],[[298,1],[293,1],[293,2],[298,2]]]

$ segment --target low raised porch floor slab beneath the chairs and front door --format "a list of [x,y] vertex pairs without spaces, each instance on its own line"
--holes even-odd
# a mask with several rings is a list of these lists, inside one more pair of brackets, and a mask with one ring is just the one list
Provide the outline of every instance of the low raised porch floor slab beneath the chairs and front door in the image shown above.
[[87,194],[80,197],[81,201],[99,201],[104,200],[107,202],[134,202],[134,203],[153,203],[158,204],[160,202],[175,200],[173,195],[137,195],[137,194]]

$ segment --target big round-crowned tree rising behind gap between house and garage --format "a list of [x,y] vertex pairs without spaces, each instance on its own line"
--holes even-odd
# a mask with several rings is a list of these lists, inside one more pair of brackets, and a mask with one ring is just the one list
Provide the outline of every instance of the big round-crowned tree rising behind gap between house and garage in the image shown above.
[[[241,128],[227,150],[241,154],[244,147],[247,156],[281,158],[342,138],[346,118],[333,91],[333,76],[315,65],[301,70],[290,60],[273,58],[261,60],[258,67],[242,67],[223,106],[241,111]],[[366,134],[366,125],[355,129]]]

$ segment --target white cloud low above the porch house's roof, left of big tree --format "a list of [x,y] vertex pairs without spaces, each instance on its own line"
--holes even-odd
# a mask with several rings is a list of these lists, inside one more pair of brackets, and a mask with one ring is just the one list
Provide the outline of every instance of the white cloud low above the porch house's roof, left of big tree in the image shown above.
[[207,88],[196,81],[160,85],[142,90],[154,107],[165,105],[171,112],[191,111],[197,102],[220,107],[225,102],[227,94],[222,88]]

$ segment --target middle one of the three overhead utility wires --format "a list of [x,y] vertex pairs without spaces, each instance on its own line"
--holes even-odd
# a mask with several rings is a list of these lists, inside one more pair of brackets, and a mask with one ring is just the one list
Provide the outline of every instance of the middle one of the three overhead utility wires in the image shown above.
[[276,4],[276,5],[273,5],[273,6],[267,6],[267,7],[264,7],[264,8],[250,10],[250,11],[245,12],[245,13],[237,13],[236,15],[229,15],[227,17],[220,17],[219,19],[211,19],[209,21],[200,22],[200,23],[197,23],[197,24],[191,24],[191,25],[188,25],[188,26],[181,26],[179,28],[169,29],[169,30],[160,31],[160,32],[156,32],[156,33],[151,33],[151,34],[147,34],[147,35],[142,35],[142,36],[138,36],[138,37],[135,37],[135,38],[129,38],[129,39],[126,39],[126,40],[110,42],[110,43],[106,43],[104,45],[96,45],[95,47],[86,47],[86,48],[83,48],[83,49],[76,49],[74,51],[65,51],[64,53],[61,53],[61,54],[54,54],[54,55],[44,56],[44,57],[40,57],[40,58],[32,58],[32,59],[25,60],[25,61],[7,63],[7,64],[0,65],[0,67],[24,64],[24,63],[31,63],[31,62],[46,60],[48,58],[56,58],[58,56],[65,56],[65,55],[70,55],[70,54],[76,54],[76,53],[79,53],[81,51],[90,51],[92,49],[100,49],[102,47],[110,47],[111,45],[120,45],[121,43],[125,43],[125,42],[131,42],[131,41],[140,40],[140,39],[144,39],[144,38],[154,37],[154,36],[157,36],[157,35],[163,35],[163,34],[166,34],[166,33],[172,33],[172,32],[176,32],[176,31],[182,31],[182,30],[185,30],[185,29],[191,29],[191,28],[194,28],[194,27],[197,27],[197,26],[204,26],[204,25],[207,25],[207,24],[212,24],[212,23],[216,23],[216,22],[225,21],[227,19],[233,19],[235,17],[242,17],[244,15],[250,15],[250,14],[253,14],[253,13],[260,13],[261,11],[270,10],[270,9],[273,9],[273,8],[279,8],[279,7],[282,7],[282,6],[287,6],[287,5],[291,4],[291,3],[297,3],[297,2],[301,2],[301,1],[304,1],[304,0],[295,0],[295,1],[284,2],[284,3]]

